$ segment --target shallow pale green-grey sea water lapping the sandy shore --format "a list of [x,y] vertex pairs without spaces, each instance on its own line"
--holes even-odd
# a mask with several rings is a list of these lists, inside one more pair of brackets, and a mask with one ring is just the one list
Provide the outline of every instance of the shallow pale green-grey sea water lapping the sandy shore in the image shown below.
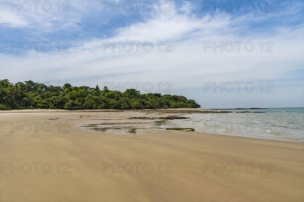
[[[188,120],[170,120],[172,127],[192,127],[199,132],[261,138],[304,140],[304,108],[221,110],[226,114],[191,114]],[[250,113],[237,113],[249,111]],[[263,113],[253,113],[263,112]]]

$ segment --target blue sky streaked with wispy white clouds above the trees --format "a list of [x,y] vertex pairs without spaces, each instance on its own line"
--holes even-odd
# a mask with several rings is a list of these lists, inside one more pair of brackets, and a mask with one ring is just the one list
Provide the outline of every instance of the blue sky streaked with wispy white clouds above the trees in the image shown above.
[[304,105],[303,1],[1,1],[0,78]]

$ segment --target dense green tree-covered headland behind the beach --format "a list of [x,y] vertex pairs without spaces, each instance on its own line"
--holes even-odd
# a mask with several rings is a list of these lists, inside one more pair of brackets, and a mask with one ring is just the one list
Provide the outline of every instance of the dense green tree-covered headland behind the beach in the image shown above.
[[125,92],[101,90],[89,86],[47,86],[31,80],[10,83],[0,80],[0,110],[12,109],[168,109],[200,108],[195,100],[179,95],[140,94],[136,89]]

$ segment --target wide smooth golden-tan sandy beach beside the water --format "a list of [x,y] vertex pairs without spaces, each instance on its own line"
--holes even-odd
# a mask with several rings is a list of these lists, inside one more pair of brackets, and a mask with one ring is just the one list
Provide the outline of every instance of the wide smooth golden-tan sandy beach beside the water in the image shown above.
[[2,111],[0,200],[304,200],[302,141],[143,129],[168,112]]

